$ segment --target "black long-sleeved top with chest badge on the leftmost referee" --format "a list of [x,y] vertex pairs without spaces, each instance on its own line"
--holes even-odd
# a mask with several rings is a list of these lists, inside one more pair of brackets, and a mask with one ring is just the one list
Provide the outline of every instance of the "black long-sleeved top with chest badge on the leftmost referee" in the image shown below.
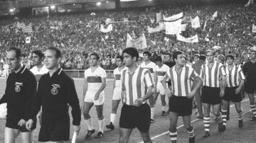
[[0,103],[7,103],[7,120],[29,119],[36,85],[36,77],[24,66],[17,73],[9,74],[5,94],[0,100]]

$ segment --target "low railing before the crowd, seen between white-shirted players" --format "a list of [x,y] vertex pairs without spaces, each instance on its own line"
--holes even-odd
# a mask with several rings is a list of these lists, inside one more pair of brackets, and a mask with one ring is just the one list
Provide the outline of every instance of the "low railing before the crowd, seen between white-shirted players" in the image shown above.
[[[65,73],[72,78],[84,78],[85,70],[78,69],[64,69]],[[114,79],[114,70],[105,70],[107,73],[107,79]]]

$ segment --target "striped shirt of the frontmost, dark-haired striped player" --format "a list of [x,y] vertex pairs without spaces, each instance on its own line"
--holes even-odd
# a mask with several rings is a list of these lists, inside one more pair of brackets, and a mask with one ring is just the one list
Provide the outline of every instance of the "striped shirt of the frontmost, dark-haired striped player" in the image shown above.
[[124,69],[121,75],[122,91],[124,91],[124,103],[134,105],[134,101],[146,93],[146,88],[154,86],[153,80],[148,69],[138,67],[133,74],[129,74],[128,69]]

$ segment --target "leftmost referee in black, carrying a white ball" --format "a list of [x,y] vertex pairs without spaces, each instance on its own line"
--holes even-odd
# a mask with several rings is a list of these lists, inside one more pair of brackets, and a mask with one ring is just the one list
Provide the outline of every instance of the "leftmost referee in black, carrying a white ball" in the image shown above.
[[[36,77],[31,71],[21,66],[21,50],[12,47],[7,52],[6,61],[11,69],[6,81],[6,91],[0,100],[7,103],[6,127],[4,142],[15,142],[21,132],[23,142],[32,143],[36,118],[31,118],[33,127],[26,129],[26,122],[31,114],[33,98],[36,96]],[[33,119],[33,120],[32,120]]]

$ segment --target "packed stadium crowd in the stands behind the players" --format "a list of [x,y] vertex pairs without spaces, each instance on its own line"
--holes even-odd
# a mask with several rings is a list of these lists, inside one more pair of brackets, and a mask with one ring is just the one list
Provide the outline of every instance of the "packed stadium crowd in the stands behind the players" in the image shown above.
[[[32,65],[31,51],[45,50],[51,45],[60,48],[63,52],[62,65],[64,69],[87,69],[88,53],[100,54],[100,65],[104,69],[114,69],[115,57],[122,52],[126,45],[127,33],[132,38],[139,38],[144,33],[147,49],[155,55],[161,55],[171,50],[183,50],[188,59],[193,54],[201,53],[215,45],[221,47],[219,54],[227,55],[233,52],[243,62],[247,58],[248,47],[256,45],[255,33],[252,33],[252,24],[255,20],[255,6],[218,5],[218,6],[181,6],[161,8],[134,8],[120,11],[99,11],[95,14],[85,12],[59,13],[53,16],[37,16],[29,18],[2,18],[0,21],[0,55],[1,67],[4,66],[4,57],[9,47],[18,47],[23,50],[23,64],[28,68]],[[164,16],[172,16],[183,12],[183,23],[190,23],[190,16],[199,16],[201,28],[191,28],[188,24],[184,37],[198,35],[199,42],[186,43],[176,40],[174,35],[166,35],[164,30],[159,33],[148,33],[147,26],[156,27],[156,12],[162,11]],[[210,20],[215,11],[218,17]],[[106,18],[113,21],[123,21],[128,18],[129,23],[112,23],[110,33],[102,33],[100,24],[105,24]],[[16,28],[17,22],[28,25],[32,23],[33,32],[23,33]],[[207,21],[206,30],[203,25]],[[26,43],[26,37],[31,36],[31,43]],[[188,48],[189,47],[189,48]]]

